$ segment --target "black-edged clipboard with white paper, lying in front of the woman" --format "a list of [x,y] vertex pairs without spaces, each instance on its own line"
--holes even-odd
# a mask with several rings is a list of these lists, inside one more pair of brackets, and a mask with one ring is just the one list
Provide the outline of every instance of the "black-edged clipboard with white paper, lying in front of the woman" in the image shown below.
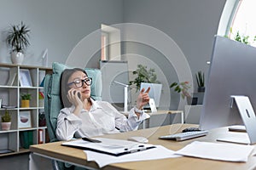
[[84,141],[83,139],[72,140],[64,142],[61,145],[69,146],[73,148],[79,148],[81,150],[91,150],[102,154],[108,154],[111,156],[123,156],[125,154],[131,154],[138,151],[149,150],[155,148],[153,144],[141,144],[128,140],[120,139],[106,139],[95,138],[102,141],[102,143],[92,143]]

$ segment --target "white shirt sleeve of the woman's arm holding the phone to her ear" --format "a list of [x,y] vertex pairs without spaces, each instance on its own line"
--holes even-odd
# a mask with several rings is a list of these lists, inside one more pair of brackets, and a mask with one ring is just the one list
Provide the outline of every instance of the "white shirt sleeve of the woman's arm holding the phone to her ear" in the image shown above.
[[60,111],[57,119],[56,137],[59,140],[73,139],[73,135],[82,126],[82,120],[75,116],[70,108],[64,108]]

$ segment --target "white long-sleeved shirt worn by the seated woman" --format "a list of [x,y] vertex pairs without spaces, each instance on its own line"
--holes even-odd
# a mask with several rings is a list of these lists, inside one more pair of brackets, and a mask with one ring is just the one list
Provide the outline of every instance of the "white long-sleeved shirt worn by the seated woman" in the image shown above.
[[55,132],[57,139],[69,140],[73,137],[83,138],[137,130],[138,125],[149,117],[147,113],[142,113],[138,118],[134,109],[131,109],[126,118],[106,101],[91,99],[91,102],[90,111],[82,109],[79,116],[73,114],[74,106],[60,111]]

